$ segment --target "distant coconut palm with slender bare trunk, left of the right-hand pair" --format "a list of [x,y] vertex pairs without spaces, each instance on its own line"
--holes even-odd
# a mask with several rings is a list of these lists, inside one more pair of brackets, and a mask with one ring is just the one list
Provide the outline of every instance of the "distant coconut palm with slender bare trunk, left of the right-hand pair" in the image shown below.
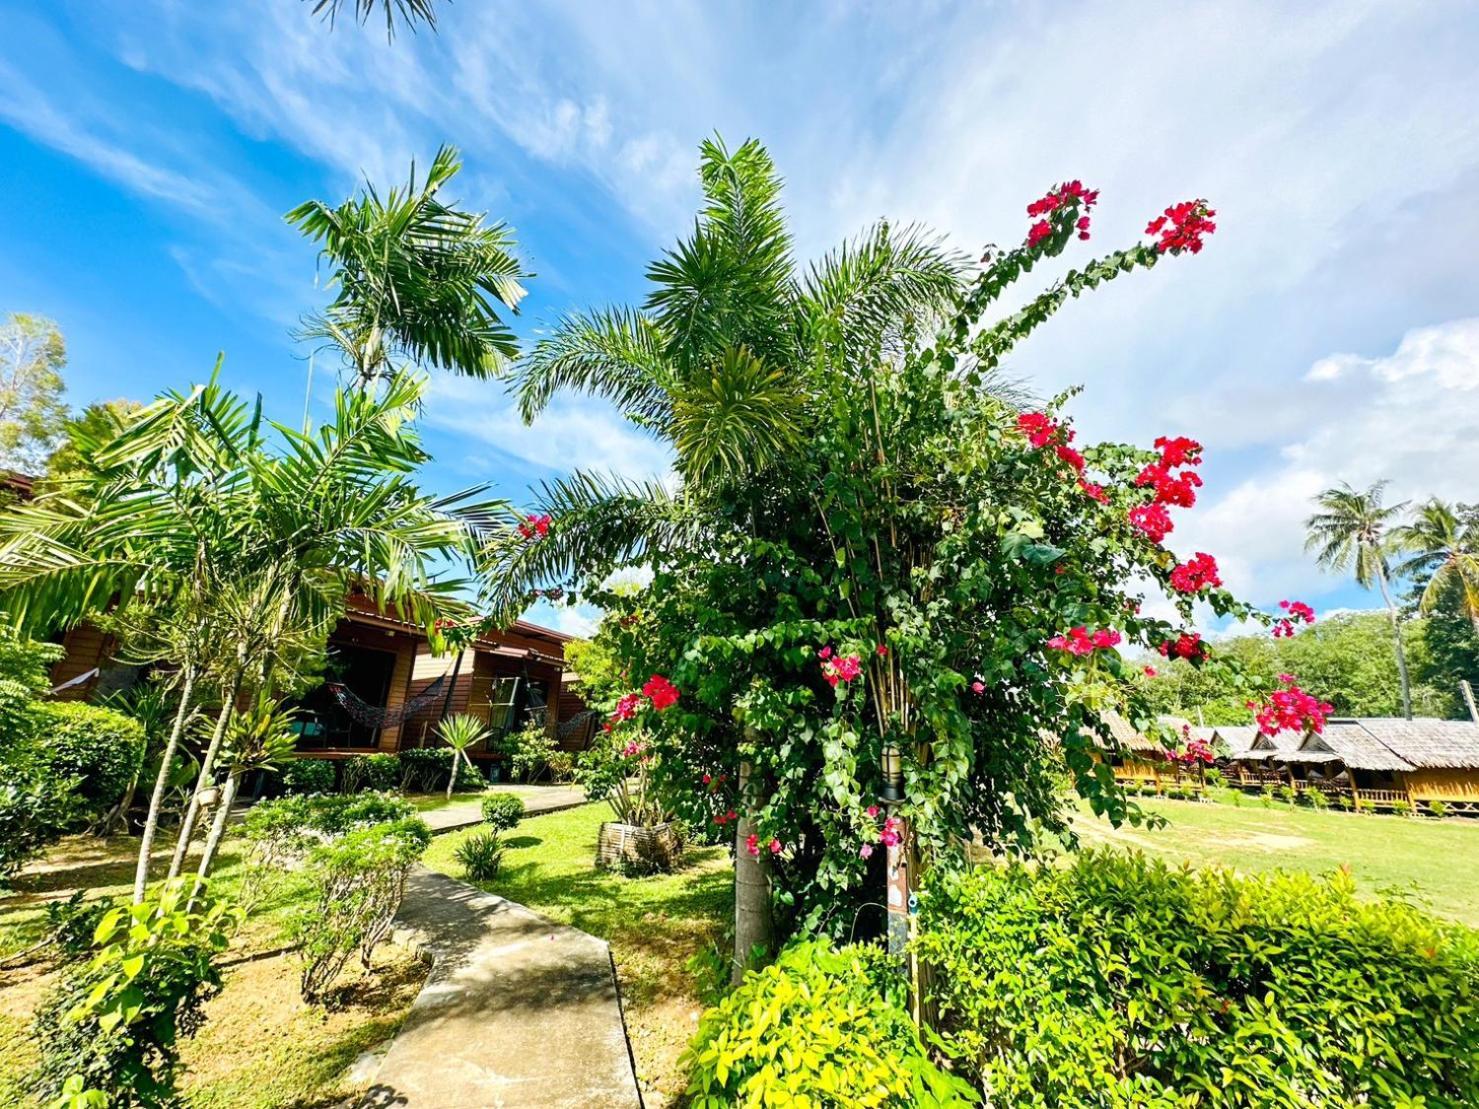
[[1315,503],[1321,512],[1304,520],[1304,550],[1315,553],[1315,560],[1330,571],[1355,569],[1356,584],[1381,590],[1381,600],[1392,623],[1392,648],[1396,651],[1396,670],[1402,683],[1402,716],[1412,719],[1412,689],[1407,674],[1407,652],[1402,649],[1402,621],[1392,600],[1387,557],[1395,549],[1392,520],[1407,509],[1401,504],[1383,504],[1387,482],[1375,482],[1371,488],[1358,491],[1341,482],[1338,488],[1325,489]]

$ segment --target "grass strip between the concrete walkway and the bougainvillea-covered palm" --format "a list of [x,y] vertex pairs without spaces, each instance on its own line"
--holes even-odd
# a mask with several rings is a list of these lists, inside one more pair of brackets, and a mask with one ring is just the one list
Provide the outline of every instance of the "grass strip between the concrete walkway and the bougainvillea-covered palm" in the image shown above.
[[[691,847],[676,874],[598,871],[596,835],[609,819],[602,803],[522,821],[504,837],[501,872],[479,886],[611,943],[637,1079],[657,1109],[685,1085],[677,1059],[704,1008],[685,964],[722,939],[734,912],[732,869],[723,847]],[[476,831],[438,837],[426,865],[460,878],[454,852]]]

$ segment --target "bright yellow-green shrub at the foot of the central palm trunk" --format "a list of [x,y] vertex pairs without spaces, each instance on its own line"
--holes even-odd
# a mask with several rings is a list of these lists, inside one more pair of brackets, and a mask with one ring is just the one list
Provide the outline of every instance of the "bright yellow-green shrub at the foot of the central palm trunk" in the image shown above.
[[902,985],[877,948],[791,945],[700,1019],[683,1057],[689,1105],[976,1105],[964,1082],[930,1062]]

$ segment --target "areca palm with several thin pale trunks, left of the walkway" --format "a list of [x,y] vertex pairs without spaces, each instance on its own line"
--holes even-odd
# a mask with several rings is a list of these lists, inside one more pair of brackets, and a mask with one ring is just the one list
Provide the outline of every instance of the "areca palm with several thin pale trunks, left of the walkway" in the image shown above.
[[253,674],[268,679],[284,643],[327,636],[352,587],[427,625],[470,611],[467,583],[441,569],[466,563],[503,507],[482,486],[438,498],[411,481],[426,457],[410,423],[422,390],[393,377],[380,395],[340,393],[317,435],[274,426],[274,447],[260,416],[213,379],[142,410],[59,489],[0,518],[0,596],[15,618],[55,625],[148,603],[155,657],[179,668],[136,896],[200,683],[214,685],[219,714],[173,869],[237,696]]

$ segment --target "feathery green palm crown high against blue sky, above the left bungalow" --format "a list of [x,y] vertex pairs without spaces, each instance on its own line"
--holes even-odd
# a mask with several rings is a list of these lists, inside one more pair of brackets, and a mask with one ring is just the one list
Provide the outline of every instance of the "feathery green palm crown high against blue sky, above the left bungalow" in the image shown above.
[[503,223],[438,195],[460,169],[442,146],[423,182],[413,164],[405,188],[383,198],[367,183],[339,207],[311,200],[285,216],[321,244],[336,290],[303,336],[339,347],[361,386],[392,374],[396,359],[487,377],[518,353],[498,308],[518,311],[528,275]]

